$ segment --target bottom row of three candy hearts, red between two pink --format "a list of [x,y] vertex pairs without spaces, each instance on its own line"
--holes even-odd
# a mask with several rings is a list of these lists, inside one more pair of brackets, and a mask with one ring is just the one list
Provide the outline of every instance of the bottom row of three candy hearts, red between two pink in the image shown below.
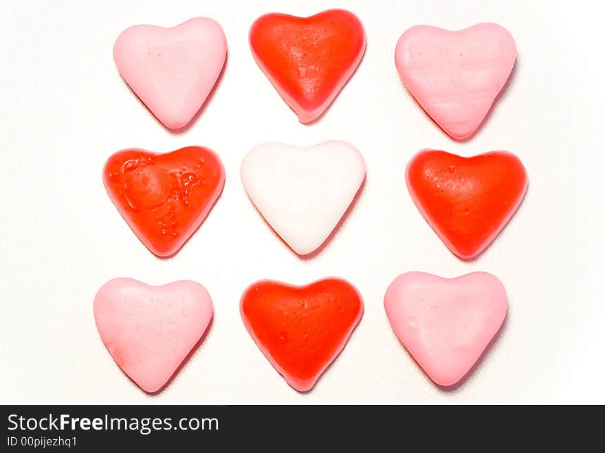
[[[401,274],[384,308],[395,335],[439,386],[463,379],[507,313],[503,284],[485,272],[441,278]],[[359,291],[341,278],[305,286],[252,283],[241,318],[267,360],[300,392],[313,388],[362,318]],[[188,280],[150,286],[115,278],[94,299],[100,337],[115,363],[140,388],[157,393],[201,342],[212,318],[206,289]]]

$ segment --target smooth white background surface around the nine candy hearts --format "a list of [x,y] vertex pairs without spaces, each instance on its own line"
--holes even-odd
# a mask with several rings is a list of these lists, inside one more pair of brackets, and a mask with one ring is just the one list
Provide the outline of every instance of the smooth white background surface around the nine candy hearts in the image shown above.
[[[605,402],[602,289],[605,104],[602,11],[593,1],[3,1],[0,5],[0,401],[148,403]],[[358,14],[368,36],[358,71],[316,124],[305,126],[256,67],[248,27],[270,11]],[[228,61],[192,126],[171,133],[120,79],[111,49],[124,28],[210,16]],[[410,98],[393,61],[397,38],[426,23],[461,29],[495,21],[513,34],[516,69],[487,121],[454,142]],[[362,151],[366,184],[331,243],[304,260],[267,232],[248,201],[241,159],[256,144],[346,140]],[[114,151],[199,144],[223,160],[222,197],[174,257],[155,258],[104,192]],[[404,183],[421,148],[516,153],[529,173],[520,210],[476,261],[453,256]],[[402,349],[382,298],[401,272],[492,272],[509,314],[474,375],[435,387]],[[259,278],[351,280],[366,310],[311,393],[290,388],[250,340],[239,297]],[[94,325],[107,280],[191,279],[214,303],[210,332],[163,393],[127,379]]]

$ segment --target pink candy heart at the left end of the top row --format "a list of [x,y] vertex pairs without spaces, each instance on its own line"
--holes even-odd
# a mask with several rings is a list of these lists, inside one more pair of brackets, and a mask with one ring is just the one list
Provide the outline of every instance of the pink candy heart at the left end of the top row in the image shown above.
[[221,25],[195,17],[172,28],[135,25],[118,36],[118,71],[169,129],[185,126],[208,98],[227,56]]

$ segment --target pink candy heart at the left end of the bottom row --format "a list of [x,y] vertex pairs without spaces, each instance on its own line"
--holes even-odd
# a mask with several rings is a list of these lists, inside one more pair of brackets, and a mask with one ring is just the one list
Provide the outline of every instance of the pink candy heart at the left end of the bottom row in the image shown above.
[[192,281],[149,286],[114,278],[96,294],[94,316],[115,363],[137,386],[155,393],[206,331],[212,300]]

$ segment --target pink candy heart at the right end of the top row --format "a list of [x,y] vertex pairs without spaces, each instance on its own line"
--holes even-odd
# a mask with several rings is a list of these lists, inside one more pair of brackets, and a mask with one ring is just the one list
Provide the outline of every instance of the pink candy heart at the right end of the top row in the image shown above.
[[481,125],[514,67],[511,34],[496,23],[450,32],[417,25],[399,38],[397,71],[422,108],[456,139]]

